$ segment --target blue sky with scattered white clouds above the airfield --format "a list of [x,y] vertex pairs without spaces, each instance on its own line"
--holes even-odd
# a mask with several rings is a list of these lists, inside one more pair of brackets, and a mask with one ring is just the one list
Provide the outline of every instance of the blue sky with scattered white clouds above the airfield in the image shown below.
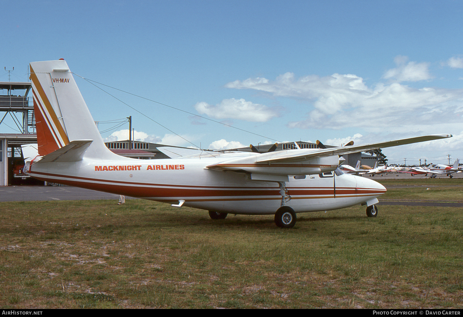
[[[390,163],[463,159],[462,1],[3,0],[0,7],[0,66],[14,67],[12,81],[27,81],[30,62],[64,58],[79,76],[191,113],[100,86],[150,120],[75,76],[94,120],[131,115],[136,139],[230,148],[451,133],[383,152]],[[0,81],[8,81],[4,70]],[[5,124],[1,133],[14,132]],[[127,130],[102,137],[127,139]]]

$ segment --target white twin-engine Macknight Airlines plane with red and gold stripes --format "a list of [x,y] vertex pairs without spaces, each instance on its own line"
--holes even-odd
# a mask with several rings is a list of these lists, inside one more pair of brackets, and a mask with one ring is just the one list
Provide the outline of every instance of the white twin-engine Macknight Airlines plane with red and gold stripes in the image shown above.
[[63,60],[31,63],[37,158],[24,170],[40,180],[227,214],[273,215],[290,228],[296,213],[367,205],[375,217],[386,192],[339,171],[339,156],[451,137],[428,135],[361,146],[267,153],[163,147],[171,159],[128,159],[111,152]]

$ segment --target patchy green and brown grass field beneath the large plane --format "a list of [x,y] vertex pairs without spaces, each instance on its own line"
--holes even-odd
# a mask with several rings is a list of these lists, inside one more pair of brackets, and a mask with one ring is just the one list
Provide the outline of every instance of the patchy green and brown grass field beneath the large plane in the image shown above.
[[[379,180],[405,185],[385,199],[463,200],[462,180]],[[0,308],[461,309],[462,246],[449,207],[355,206],[281,229],[142,200],[0,203]]]

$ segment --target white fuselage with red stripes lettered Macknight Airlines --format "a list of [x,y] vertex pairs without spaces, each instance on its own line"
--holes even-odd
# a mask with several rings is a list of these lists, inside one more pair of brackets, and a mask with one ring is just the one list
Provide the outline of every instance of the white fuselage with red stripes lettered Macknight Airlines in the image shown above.
[[[32,164],[29,175],[53,183],[111,192],[163,203],[232,214],[275,214],[282,205],[277,182],[257,181],[249,174],[206,168],[223,159],[125,159]],[[325,175],[324,175],[325,174]],[[381,196],[379,183],[332,172],[289,177],[285,205],[295,212],[332,210]],[[291,199],[288,199],[291,197]],[[256,203],[257,202],[257,203]]]

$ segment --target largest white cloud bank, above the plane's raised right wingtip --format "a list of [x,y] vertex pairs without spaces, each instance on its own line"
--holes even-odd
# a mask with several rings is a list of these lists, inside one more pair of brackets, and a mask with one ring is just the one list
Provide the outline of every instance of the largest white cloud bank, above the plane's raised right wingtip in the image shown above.
[[[389,78],[431,78],[427,63],[407,62],[407,57],[402,56],[396,57],[395,62],[398,68],[390,71]],[[377,133],[435,130],[437,122],[442,123],[441,128],[445,127],[444,124],[450,128],[461,124],[463,89],[412,88],[401,84],[400,80],[378,82],[369,87],[362,77],[353,74],[296,78],[288,72],[274,81],[249,78],[229,82],[225,87],[254,89],[305,102],[306,106],[299,115],[288,122],[291,128],[359,127]],[[446,131],[444,133],[448,133]]]

